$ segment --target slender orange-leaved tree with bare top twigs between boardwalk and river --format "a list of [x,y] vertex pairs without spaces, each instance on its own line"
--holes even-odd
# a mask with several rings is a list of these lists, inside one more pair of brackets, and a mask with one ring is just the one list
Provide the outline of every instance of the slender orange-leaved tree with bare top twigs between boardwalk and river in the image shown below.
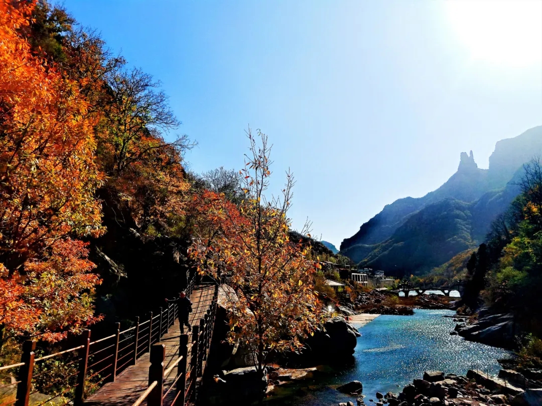
[[293,175],[287,173],[280,198],[266,199],[271,146],[266,135],[258,136],[261,145],[248,131],[244,200],[237,207],[224,194],[215,195],[208,205],[215,232],[200,235],[191,256],[202,272],[227,274],[235,292],[226,303],[230,340],[247,345],[262,373],[269,352],[299,349],[300,338],[317,328],[322,313],[314,292],[318,264],[306,258],[310,246],[289,237]]

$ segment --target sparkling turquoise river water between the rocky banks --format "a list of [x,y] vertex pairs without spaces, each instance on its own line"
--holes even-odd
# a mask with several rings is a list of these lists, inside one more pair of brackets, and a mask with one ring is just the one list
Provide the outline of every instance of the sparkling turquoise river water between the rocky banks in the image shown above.
[[[355,400],[336,388],[361,381],[365,403],[374,405],[375,392],[398,392],[427,370],[464,375],[471,368],[496,374],[497,359],[509,352],[450,336],[455,322],[450,310],[415,310],[414,316],[379,316],[359,329],[350,365],[335,366],[299,384],[281,389],[269,404],[324,406]],[[266,402],[267,403],[267,402]]]

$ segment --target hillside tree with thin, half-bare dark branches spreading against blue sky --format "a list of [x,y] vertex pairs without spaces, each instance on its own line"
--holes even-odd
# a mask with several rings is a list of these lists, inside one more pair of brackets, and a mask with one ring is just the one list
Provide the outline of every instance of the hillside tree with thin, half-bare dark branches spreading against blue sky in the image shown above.
[[107,195],[128,207],[145,232],[182,212],[185,180],[182,154],[194,143],[186,135],[165,136],[180,125],[159,89],[140,69],[117,69],[107,78],[109,99],[98,127],[98,159],[108,175]]

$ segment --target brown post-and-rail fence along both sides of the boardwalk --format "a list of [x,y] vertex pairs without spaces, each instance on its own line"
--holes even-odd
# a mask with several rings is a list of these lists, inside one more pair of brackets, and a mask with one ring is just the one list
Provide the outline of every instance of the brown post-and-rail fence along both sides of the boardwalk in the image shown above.
[[[192,293],[195,278],[194,275],[189,281],[185,290],[187,296]],[[105,383],[115,381],[120,372],[134,365],[147,351],[150,351],[151,359],[149,388],[134,405],[139,405],[145,398],[149,406],[162,405],[174,386],[177,396],[171,405],[195,401],[197,377],[202,376],[202,365],[207,358],[215,323],[217,292],[218,289],[215,289],[215,297],[207,314],[193,328],[190,360],[188,335],[184,334],[180,336],[177,361],[164,371],[165,350],[159,341],[175,323],[179,311],[177,304],[168,304],[165,308],[160,307],[157,315],[151,312],[144,322],[137,317],[135,325],[129,329],[121,331],[120,323],[116,323],[115,333],[95,341],[91,341],[91,331],[84,330],[80,345],[39,358],[35,355],[36,342],[25,341],[21,362],[0,366],[0,372],[10,371],[11,376],[17,377],[15,382],[0,385],[0,394],[8,394],[9,390],[15,392],[16,388],[15,398],[0,406],[29,406],[30,395],[33,394],[40,395],[40,399],[46,397],[33,402],[34,406],[53,403],[81,406],[88,395]],[[187,362],[190,363],[188,373]],[[175,370],[175,366],[176,379],[164,392],[164,380]]]

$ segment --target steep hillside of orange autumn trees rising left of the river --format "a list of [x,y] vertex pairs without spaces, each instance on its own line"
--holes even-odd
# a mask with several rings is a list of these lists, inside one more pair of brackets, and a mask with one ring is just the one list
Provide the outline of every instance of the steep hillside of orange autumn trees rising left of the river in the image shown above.
[[288,303],[273,293],[282,313],[259,318],[261,333],[236,320],[231,334],[248,334],[255,352],[315,328],[311,258],[332,253],[290,230],[292,174],[282,198],[265,200],[266,135],[244,134],[254,156],[243,174],[187,172],[195,141],[177,134],[160,82],[47,2],[0,0],[0,77],[0,355],[25,337],[47,346],[145,314],[188,270],[227,272],[244,306],[262,280],[289,292]]

